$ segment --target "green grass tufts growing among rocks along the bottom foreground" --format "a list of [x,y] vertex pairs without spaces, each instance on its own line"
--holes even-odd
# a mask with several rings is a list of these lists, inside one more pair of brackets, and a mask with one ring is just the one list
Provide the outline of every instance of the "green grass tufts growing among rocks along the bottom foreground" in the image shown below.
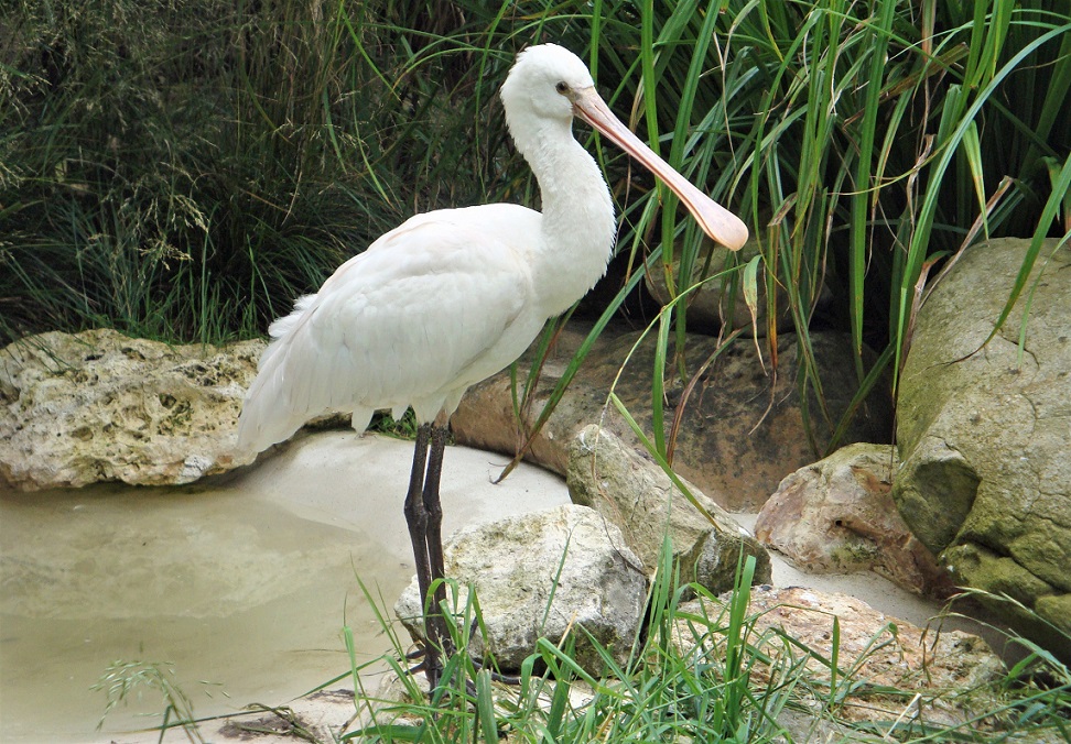
[[[493,658],[474,665],[467,649],[469,632],[483,633],[483,617],[474,593],[456,603],[448,615],[459,652],[448,659],[444,681],[432,699],[418,678],[405,672],[408,641],[397,635],[381,598],[364,587],[379,623],[394,650],[365,665],[356,661],[353,634],[344,627],[350,669],[317,687],[350,680],[358,711],[370,704],[375,713],[336,741],[381,742],[625,742],[708,741],[765,742],[1034,742],[1061,741],[1071,733],[1071,672],[1045,649],[1010,636],[1026,650],[1003,676],[954,691],[892,689],[872,685],[861,671],[870,655],[887,653],[896,643],[895,627],[872,641],[851,666],[841,658],[840,625],[833,620],[831,650],[809,648],[776,627],[758,630],[759,615],[749,609],[754,558],[742,561],[735,589],[724,599],[696,586],[678,587],[663,551],[650,589],[646,623],[624,664],[596,645],[602,674],[585,670],[574,659],[576,634],[540,639],[519,670],[519,683],[493,680]],[[450,583],[456,601],[456,586]],[[674,588],[675,587],[675,588]],[[700,603],[684,605],[685,594]],[[1000,598],[987,598],[1000,601]],[[1007,601],[1007,600],[1004,600]],[[695,608],[700,609],[696,610]],[[931,632],[937,632],[931,630]],[[587,641],[591,641],[587,638]],[[400,699],[377,701],[366,676],[381,676],[383,666],[399,676]],[[161,732],[182,727],[199,741],[199,726],[218,719],[196,720],[173,671],[161,665],[117,663],[101,679],[108,689],[108,710],[143,689],[162,693],[165,707]],[[421,678],[422,679],[422,678]],[[921,698],[916,698],[919,693]],[[966,711],[956,725],[923,723],[913,705],[934,694],[951,696]],[[880,699],[908,713],[888,720],[853,722],[845,703]],[[288,708],[256,704],[259,712]],[[232,716],[223,716],[232,718]],[[292,714],[291,714],[291,718]],[[301,726],[300,720],[292,720]],[[303,737],[315,741],[307,727]],[[326,744],[326,742],[324,743]]]

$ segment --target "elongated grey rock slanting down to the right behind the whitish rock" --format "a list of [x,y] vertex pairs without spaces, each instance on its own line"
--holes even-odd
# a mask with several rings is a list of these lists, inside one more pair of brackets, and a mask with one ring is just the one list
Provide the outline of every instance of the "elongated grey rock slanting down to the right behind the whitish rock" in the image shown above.
[[715,594],[732,589],[742,551],[756,558],[755,582],[770,580],[770,557],[750,533],[685,483],[704,516],[657,463],[606,429],[592,425],[573,439],[565,482],[573,503],[591,506],[620,528],[648,577],[658,568],[668,530],[682,581]]

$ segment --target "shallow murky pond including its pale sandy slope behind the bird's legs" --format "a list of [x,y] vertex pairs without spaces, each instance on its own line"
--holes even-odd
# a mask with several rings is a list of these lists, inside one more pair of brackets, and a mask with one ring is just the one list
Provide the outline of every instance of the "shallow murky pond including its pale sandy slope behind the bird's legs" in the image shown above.
[[[111,741],[159,722],[158,692],[90,690],[116,660],[170,663],[198,716],[284,704],[390,647],[380,610],[413,575],[402,501],[412,445],[327,433],[182,488],[0,494],[0,741]],[[444,534],[565,503],[562,480],[448,448]],[[388,616],[393,619],[392,612]],[[408,641],[404,631],[400,631]],[[147,715],[151,716],[147,718]]]

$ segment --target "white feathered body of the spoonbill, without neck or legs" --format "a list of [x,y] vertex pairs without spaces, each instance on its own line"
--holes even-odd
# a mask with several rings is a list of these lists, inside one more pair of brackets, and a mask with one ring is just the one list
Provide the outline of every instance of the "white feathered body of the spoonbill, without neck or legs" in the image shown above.
[[344,263],[272,324],[239,446],[259,451],[331,411],[353,412],[359,429],[410,404],[430,420],[508,365],[544,320],[522,248],[538,230],[538,212],[513,205],[440,210]]

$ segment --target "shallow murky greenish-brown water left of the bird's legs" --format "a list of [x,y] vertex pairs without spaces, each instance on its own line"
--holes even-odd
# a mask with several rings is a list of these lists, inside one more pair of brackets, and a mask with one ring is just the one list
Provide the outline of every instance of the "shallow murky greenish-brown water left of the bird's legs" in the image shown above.
[[344,622],[366,659],[386,650],[354,567],[386,597],[410,576],[350,530],[226,493],[8,496],[0,522],[4,741],[84,735],[106,700],[89,687],[116,659],[174,663],[198,713],[283,702],[346,669]]

